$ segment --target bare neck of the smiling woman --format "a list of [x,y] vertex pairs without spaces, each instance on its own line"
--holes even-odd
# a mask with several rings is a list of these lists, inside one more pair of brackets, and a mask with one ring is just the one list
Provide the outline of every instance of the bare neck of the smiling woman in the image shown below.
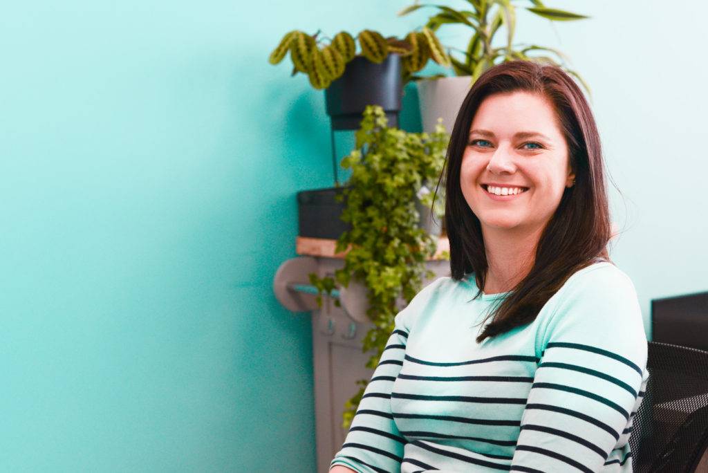
[[484,293],[508,292],[531,270],[543,229],[515,232],[513,229],[482,227],[487,268]]

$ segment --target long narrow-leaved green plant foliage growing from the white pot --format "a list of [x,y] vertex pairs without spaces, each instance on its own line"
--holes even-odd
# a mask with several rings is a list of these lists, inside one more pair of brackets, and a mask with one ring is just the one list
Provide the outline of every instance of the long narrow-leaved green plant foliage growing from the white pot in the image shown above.
[[[549,8],[544,6],[540,0],[527,1],[530,5],[525,7],[527,11],[550,21],[573,21],[588,18],[588,16],[578,13]],[[512,0],[467,0],[467,3],[471,7],[469,10],[457,10],[440,4],[421,4],[416,0],[413,5],[401,10],[399,16],[407,15],[418,8],[435,8],[437,12],[428,18],[426,24],[428,30],[436,32],[443,25],[464,25],[469,28],[472,34],[465,50],[449,47],[448,49],[454,51],[455,54],[448,54],[455,74],[472,76],[472,82],[495,64],[523,59],[556,64],[575,76],[586,91],[590,92],[586,81],[577,72],[569,69],[569,59],[563,52],[552,47],[515,45],[513,43],[517,6],[513,4]],[[506,29],[506,44],[495,47],[493,45],[494,36],[503,29]]]

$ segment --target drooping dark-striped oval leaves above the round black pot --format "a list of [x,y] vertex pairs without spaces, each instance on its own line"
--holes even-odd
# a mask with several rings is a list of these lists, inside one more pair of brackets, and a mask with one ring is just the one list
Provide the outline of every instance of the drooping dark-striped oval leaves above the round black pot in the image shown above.
[[308,35],[292,30],[282,37],[270,53],[268,62],[278,64],[290,52],[292,75],[298,72],[307,74],[315,89],[326,89],[344,73],[346,64],[357,55],[357,42],[360,55],[377,64],[384,62],[389,54],[401,55],[404,82],[423,69],[428,59],[444,67],[451,65],[450,57],[435,36],[435,31],[427,27],[408,33],[404,39],[395,36],[384,38],[373,30],[360,31],[356,39],[346,31],[330,39],[321,36],[319,31]]

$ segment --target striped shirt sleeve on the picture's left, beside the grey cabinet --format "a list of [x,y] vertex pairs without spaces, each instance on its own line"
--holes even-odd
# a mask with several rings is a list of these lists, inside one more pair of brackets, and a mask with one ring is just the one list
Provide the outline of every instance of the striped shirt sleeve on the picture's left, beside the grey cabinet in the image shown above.
[[344,465],[360,473],[400,471],[406,440],[394,422],[391,392],[403,366],[413,318],[421,312],[430,294],[444,279],[438,278],[423,287],[408,306],[396,315],[394,331],[365,389],[344,445],[335,455],[331,466]]

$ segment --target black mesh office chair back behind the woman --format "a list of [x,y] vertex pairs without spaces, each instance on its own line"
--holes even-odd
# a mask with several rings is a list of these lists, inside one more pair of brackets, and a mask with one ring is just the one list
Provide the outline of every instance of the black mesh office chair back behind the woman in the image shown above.
[[708,351],[649,342],[649,380],[634,415],[634,472],[695,472],[708,448]]

